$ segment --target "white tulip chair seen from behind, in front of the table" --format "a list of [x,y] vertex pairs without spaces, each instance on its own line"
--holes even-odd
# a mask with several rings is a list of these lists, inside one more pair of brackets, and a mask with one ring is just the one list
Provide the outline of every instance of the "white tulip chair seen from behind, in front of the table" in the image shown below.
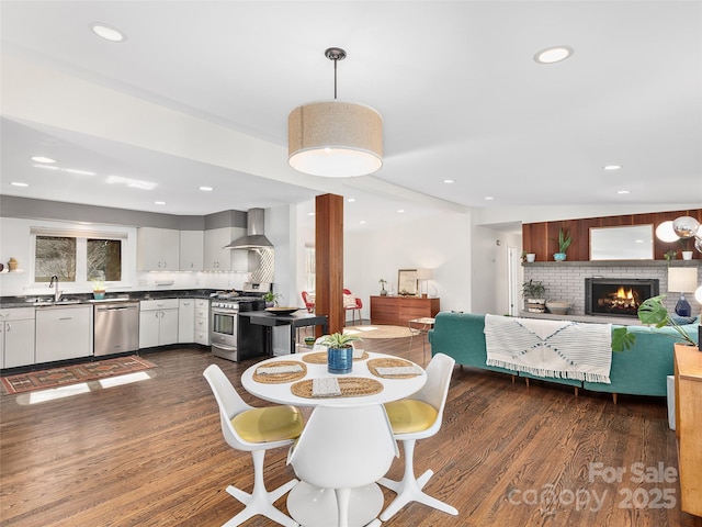
[[[338,524],[330,525],[348,527],[351,490],[377,481],[398,455],[383,405],[317,406],[287,462],[301,480],[333,489]],[[381,522],[375,518],[367,525]]]

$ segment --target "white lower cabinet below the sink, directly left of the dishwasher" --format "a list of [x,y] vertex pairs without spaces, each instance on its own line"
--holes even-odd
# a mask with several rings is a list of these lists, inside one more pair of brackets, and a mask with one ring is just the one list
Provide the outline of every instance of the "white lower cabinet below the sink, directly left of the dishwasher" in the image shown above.
[[36,363],[92,355],[92,305],[36,309]]

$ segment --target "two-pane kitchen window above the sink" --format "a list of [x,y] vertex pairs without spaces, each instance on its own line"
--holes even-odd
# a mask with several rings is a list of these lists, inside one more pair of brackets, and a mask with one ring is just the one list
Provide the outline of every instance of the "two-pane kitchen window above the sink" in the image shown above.
[[33,227],[34,281],[121,282],[126,234]]

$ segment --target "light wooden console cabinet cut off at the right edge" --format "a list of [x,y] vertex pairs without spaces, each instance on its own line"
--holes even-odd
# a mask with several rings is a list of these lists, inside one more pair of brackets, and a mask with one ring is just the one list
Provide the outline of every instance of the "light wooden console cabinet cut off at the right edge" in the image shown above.
[[702,516],[702,352],[676,344],[675,372],[681,508]]

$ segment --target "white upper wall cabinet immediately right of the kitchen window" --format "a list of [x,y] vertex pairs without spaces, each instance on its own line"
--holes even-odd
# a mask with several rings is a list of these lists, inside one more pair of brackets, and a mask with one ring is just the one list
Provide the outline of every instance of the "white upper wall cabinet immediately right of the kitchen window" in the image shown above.
[[139,227],[136,235],[138,271],[180,270],[180,231]]

